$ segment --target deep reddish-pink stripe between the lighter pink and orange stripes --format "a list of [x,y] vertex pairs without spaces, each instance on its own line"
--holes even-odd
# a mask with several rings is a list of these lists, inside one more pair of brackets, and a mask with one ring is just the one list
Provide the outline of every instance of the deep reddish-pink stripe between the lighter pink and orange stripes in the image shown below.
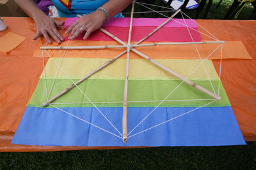
[[[140,39],[147,36],[150,32],[152,32],[156,27],[132,27],[132,38],[131,41],[140,41]],[[117,38],[122,41],[128,41],[128,32],[129,27],[104,27],[108,32],[115,35]],[[191,34],[193,36],[194,41],[201,41],[202,38],[200,33],[193,31],[190,29]],[[81,34],[75,40],[82,40],[84,34]],[[93,32],[88,40],[92,41],[113,41],[112,38],[107,36],[101,31]],[[67,37],[65,38],[67,41]],[[145,41],[175,41],[175,42],[191,42],[191,36],[189,35],[188,29],[186,27],[163,27],[155,32],[152,36],[150,36]]]

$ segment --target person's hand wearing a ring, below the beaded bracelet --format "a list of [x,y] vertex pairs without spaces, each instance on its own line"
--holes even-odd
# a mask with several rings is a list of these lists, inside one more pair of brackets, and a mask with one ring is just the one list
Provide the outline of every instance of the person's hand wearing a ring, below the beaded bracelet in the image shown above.
[[97,10],[92,14],[78,18],[76,22],[67,29],[65,34],[71,32],[68,39],[74,39],[79,34],[86,32],[83,37],[83,39],[86,39],[93,31],[99,29],[105,20],[106,15],[102,11]]

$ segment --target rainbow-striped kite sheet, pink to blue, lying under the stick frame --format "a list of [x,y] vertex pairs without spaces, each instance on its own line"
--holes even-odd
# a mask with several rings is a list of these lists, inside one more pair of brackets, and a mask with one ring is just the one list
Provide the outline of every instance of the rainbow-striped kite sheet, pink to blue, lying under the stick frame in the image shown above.
[[[68,19],[66,23],[72,20]],[[164,20],[133,18],[131,45],[147,36]],[[129,18],[115,18],[103,28],[122,41],[127,41],[129,38],[125,36],[129,32],[129,22]],[[169,36],[169,32],[175,36]],[[171,20],[143,44],[177,41],[201,41],[194,20]],[[77,38],[63,43],[66,46],[88,44],[120,45],[100,31],[93,33],[87,41]],[[220,96],[220,101],[131,51],[127,87],[127,143],[124,143],[122,134],[126,55],[42,107],[45,101],[124,49],[42,50],[43,64],[45,57],[49,57],[49,60],[12,143],[44,146],[244,145],[225,89],[209,60],[212,53],[222,52],[223,45],[216,44],[211,53],[206,52],[205,46],[174,45],[170,47],[171,51],[169,46],[138,46],[136,49],[148,52],[147,55],[159,64]],[[204,55],[198,57],[196,49]],[[219,59],[222,57],[220,55]]]

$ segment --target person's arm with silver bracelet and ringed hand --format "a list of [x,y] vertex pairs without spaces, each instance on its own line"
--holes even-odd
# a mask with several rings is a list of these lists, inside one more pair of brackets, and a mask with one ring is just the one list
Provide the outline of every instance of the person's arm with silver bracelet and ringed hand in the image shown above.
[[[114,17],[124,10],[131,2],[132,0],[109,0],[102,6],[102,8],[108,11],[109,17]],[[77,19],[77,21],[67,29],[66,34],[70,33],[68,39],[76,38],[83,31],[86,31],[83,39],[88,38],[93,31],[101,27],[106,19],[106,15],[100,10],[97,10],[90,15],[84,15]]]

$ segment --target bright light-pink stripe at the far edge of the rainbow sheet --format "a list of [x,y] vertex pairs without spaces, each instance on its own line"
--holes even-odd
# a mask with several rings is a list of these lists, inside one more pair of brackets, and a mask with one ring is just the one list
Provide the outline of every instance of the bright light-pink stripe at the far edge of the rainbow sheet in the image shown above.
[[[136,26],[138,26],[138,27],[140,27],[140,26],[158,27],[167,19],[168,18],[133,18],[132,25],[135,27]],[[66,23],[68,24],[72,20],[74,20],[74,18],[67,18]],[[173,20],[176,20],[177,22],[175,22]],[[173,20],[171,20],[166,25],[164,25],[164,27],[186,27],[185,25],[188,24],[189,27],[197,28],[195,20],[186,19],[185,20],[186,24],[183,19],[173,19]],[[75,22],[75,21],[76,21],[76,19],[73,22]],[[104,23],[103,25],[104,26],[116,26],[116,27],[129,27],[129,24],[130,24],[130,18],[111,18],[108,22]],[[184,25],[182,25],[182,24],[184,24]]]

